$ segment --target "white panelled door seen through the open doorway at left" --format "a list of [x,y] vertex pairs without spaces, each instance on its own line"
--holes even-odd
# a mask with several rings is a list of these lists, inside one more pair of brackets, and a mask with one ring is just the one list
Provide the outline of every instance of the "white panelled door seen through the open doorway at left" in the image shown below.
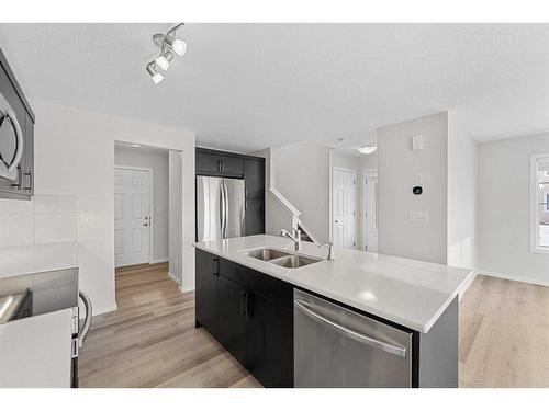
[[149,262],[150,175],[146,170],[114,170],[115,266]]

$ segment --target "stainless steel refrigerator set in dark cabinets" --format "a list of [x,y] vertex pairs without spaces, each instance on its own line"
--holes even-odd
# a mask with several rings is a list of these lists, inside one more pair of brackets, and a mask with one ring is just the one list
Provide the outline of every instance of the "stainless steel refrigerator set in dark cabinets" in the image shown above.
[[244,236],[244,180],[197,176],[197,241]]

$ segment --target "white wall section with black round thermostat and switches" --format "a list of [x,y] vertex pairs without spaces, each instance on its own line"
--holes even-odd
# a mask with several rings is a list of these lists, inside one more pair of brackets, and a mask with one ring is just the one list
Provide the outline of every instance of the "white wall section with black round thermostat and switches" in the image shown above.
[[[425,148],[412,150],[412,136]],[[447,113],[379,128],[379,247],[383,254],[446,264]],[[414,174],[424,193],[414,195]],[[410,221],[408,212],[428,212],[427,222]]]

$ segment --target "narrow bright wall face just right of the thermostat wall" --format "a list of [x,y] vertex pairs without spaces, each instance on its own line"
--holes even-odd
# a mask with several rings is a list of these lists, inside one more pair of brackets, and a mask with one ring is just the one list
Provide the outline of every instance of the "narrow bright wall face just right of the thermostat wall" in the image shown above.
[[447,264],[477,266],[477,141],[462,118],[448,112],[448,256]]

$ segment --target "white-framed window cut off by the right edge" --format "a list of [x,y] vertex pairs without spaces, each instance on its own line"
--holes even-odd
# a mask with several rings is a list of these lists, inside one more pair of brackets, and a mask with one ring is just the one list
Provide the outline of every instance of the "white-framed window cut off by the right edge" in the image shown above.
[[549,253],[549,153],[530,158],[530,250]]

